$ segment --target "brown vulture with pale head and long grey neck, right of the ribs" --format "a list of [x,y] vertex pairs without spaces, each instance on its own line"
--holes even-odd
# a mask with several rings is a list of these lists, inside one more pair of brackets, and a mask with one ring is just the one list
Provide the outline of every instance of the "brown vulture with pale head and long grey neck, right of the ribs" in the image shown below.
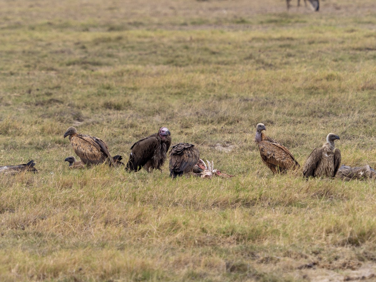
[[299,168],[300,165],[294,159],[293,154],[282,144],[266,136],[264,124],[256,126],[255,142],[258,144],[262,162],[275,173],[286,173],[291,168]]

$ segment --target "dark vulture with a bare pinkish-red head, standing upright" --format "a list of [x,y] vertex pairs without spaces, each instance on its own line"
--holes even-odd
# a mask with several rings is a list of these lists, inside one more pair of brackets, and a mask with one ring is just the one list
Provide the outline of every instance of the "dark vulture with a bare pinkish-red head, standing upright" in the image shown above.
[[142,167],[148,172],[154,168],[161,170],[170,145],[171,133],[166,127],[161,127],[158,133],[147,136],[130,147],[126,170],[139,171]]

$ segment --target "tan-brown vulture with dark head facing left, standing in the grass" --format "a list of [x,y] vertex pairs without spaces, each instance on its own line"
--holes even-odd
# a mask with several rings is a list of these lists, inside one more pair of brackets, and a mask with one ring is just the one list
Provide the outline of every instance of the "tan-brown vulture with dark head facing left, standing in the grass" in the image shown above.
[[96,165],[103,162],[114,165],[108,146],[102,139],[95,136],[77,133],[73,126],[64,133],[64,138],[69,136],[74,153],[80,157],[82,164]]

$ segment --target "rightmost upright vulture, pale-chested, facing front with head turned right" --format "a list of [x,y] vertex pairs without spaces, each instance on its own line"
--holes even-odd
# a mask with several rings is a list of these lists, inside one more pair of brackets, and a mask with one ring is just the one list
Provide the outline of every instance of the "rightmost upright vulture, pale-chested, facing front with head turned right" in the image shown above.
[[334,140],[337,139],[340,139],[338,135],[329,133],[326,136],[326,143],[312,151],[303,168],[305,177],[335,176],[341,163],[341,152],[334,147]]

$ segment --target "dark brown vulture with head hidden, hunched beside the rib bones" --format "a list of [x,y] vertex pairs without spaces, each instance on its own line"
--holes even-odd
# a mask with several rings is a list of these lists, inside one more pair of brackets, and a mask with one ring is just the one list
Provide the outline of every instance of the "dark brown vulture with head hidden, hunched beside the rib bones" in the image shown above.
[[170,151],[170,176],[182,176],[193,170],[200,159],[200,151],[193,144],[179,143]]

